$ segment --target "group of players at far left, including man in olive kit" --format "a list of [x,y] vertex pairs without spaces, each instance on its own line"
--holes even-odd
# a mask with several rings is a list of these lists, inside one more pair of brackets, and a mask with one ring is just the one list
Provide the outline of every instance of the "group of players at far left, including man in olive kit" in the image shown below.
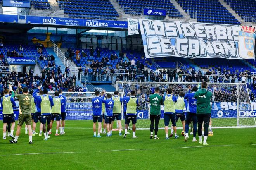
[[[9,95],[12,93],[12,96]],[[37,93],[39,92],[39,96]],[[12,90],[12,86],[9,85],[9,89],[3,91],[4,96],[1,99],[1,108],[3,110],[3,139],[6,139],[7,125],[11,124],[11,131],[8,136],[12,137],[10,143],[17,143],[21,127],[25,122],[25,133],[29,136],[29,144],[33,144],[32,136],[38,134],[35,132],[36,124],[40,122],[40,131],[38,136],[44,134],[43,140],[48,140],[51,134],[52,124],[56,120],[56,136],[65,134],[65,119],[66,119],[66,97],[62,95],[62,90],[54,93],[55,97],[48,95],[47,89],[38,89],[28,91],[27,87],[21,88],[21,84],[18,84],[18,88],[15,93]],[[15,137],[13,135],[15,120],[13,107],[16,106],[13,97],[19,99],[19,117],[18,125]],[[60,121],[62,120],[62,121]],[[47,129],[46,129],[47,124]],[[58,133],[60,131],[60,133]]]

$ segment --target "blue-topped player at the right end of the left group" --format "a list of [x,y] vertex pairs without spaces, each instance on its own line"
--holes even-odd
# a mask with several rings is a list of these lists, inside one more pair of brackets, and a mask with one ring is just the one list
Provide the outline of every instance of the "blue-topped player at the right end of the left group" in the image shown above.
[[60,129],[60,134],[65,134],[65,120],[66,120],[66,102],[67,102],[67,98],[66,96],[62,95],[62,89],[59,89],[59,98],[61,98],[62,100],[62,104],[61,104],[61,121],[59,124],[59,129]]

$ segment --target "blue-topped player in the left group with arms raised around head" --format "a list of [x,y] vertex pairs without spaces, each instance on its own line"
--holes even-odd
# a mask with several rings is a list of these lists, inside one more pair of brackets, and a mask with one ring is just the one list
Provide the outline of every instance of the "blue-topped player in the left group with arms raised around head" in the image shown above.
[[[37,94],[36,94],[38,91],[39,91],[39,96],[37,96]],[[41,98],[41,96],[43,96],[43,90],[36,89],[32,93],[32,96],[37,101],[38,98]],[[36,127],[36,124],[37,124],[38,121],[40,122],[40,129],[39,129],[38,136],[42,136],[43,124],[42,124],[42,120],[41,120],[41,103],[36,102],[36,113],[35,113],[35,116],[34,116],[33,127]]]

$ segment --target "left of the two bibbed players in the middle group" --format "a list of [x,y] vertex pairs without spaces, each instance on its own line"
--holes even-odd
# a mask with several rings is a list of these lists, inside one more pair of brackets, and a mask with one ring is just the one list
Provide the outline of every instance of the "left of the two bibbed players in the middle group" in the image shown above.
[[113,123],[116,120],[118,121],[118,125],[119,125],[119,136],[122,136],[122,124],[121,124],[121,107],[122,107],[122,103],[123,103],[123,98],[121,98],[120,96],[118,96],[119,91],[115,91],[114,92],[115,96],[112,97],[112,100],[114,100],[114,108],[113,108],[113,118],[112,118],[112,122],[111,122],[111,133],[112,133],[112,129],[113,129]]

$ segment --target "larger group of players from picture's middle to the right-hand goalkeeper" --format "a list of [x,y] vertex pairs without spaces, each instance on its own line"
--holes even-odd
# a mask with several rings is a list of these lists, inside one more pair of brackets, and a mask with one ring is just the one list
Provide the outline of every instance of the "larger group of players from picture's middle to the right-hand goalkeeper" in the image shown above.
[[[207,91],[207,83],[201,83],[201,89],[197,86],[194,86],[192,89],[189,87],[189,93],[185,94],[180,92],[178,97],[173,95],[173,90],[168,88],[166,90],[166,95],[163,97],[159,94],[160,88],[156,87],[154,89],[154,94],[149,96],[150,102],[150,139],[159,139],[157,137],[158,125],[161,117],[161,105],[164,105],[164,125],[166,138],[173,136],[177,139],[177,127],[176,122],[178,119],[181,120],[183,125],[183,135],[185,136],[185,141],[188,141],[189,138],[189,124],[193,122],[193,142],[196,142],[196,134],[198,133],[199,144],[208,145],[207,137],[213,134],[211,130],[211,97],[212,93]],[[123,98],[121,98],[118,91],[114,92],[114,96],[111,94],[106,94],[99,91],[95,92],[95,98],[92,99],[93,106],[93,137],[101,137],[102,133],[102,122],[104,124],[104,133],[106,137],[112,136],[112,127],[113,122],[116,119],[119,125],[119,136],[122,136],[121,133],[121,108],[123,104],[123,112],[125,117],[125,134],[123,135],[126,138],[128,134],[128,127],[130,122],[132,122],[132,131],[133,138],[136,131],[136,122],[137,122],[137,106],[140,105],[138,98],[135,97],[135,91],[128,92]],[[185,108],[185,111],[184,111]],[[185,116],[185,112],[186,116]],[[168,136],[168,127],[169,123],[172,123],[171,134]],[[96,135],[96,123],[98,122],[98,134]],[[198,131],[197,131],[198,124]],[[203,127],[204,126],[204,127]],[[204,128],[204,131],[202,129]],[[208,130],[210,128],[210,131]],[[185,132],[185,133],[184,133]],[[153,136],[154,134],[154,136]],[[202,134],[204,139],[202,141]]]

